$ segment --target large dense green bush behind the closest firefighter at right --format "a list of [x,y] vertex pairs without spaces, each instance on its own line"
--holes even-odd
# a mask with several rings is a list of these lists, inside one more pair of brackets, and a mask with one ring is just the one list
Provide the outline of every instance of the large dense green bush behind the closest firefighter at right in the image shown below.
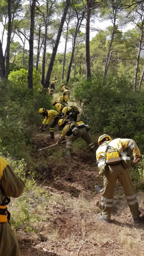
[[144,153],[144,91],[135,91],[125,77],[101,74],[75,85],[75,99],[83,102],[81,119],[94,135],[131,138]]

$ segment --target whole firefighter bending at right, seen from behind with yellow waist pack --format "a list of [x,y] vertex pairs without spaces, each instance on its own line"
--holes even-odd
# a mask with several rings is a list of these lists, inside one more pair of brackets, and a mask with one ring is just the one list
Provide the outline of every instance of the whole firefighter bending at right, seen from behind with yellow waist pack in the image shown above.
[[132,223],[137,224],[140,212],[135,189],[130,177],[130,156],[124,153],[124,149],[130,148],[134,160],[138,163],[141,153],[134,140],[115,139],[107,135],[101,135],[98,139],[99,148],[96,151],[99,174],[104,176],[104,192],[101,197],[102,213],[98,216],[101,221],[108,221],[111,218],[112,201],[114,196],[115,183],[118,179],[123,186],[127,204],[132,214]]

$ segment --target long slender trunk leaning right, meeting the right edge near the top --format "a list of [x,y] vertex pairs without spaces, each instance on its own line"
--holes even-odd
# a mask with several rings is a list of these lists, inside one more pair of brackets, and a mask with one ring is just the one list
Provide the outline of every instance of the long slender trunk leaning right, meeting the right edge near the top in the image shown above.
[[143,35],[144,35],[143,26],[144,26],[144,19],[142,20],[142,23],[141,23],[141,36],[140,36],[140,40],[139,40],[138,56],[136,59],[135,80],[134,80],[133,90],[136,90],[136,85],[137,85],[138,65],[139,65],[139,58],[140,58],[140,54],[141,54],[142,39],[143,39]]

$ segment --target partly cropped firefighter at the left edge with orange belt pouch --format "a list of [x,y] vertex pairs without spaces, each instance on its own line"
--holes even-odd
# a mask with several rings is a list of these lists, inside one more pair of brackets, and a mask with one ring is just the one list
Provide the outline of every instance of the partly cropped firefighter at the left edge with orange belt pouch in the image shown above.
[[0,256],[20,256],[16,236],[11,228],[10,213],[7,205],[10,197],[18,198],[25,184],[12,170],[9,164],[0,157]]

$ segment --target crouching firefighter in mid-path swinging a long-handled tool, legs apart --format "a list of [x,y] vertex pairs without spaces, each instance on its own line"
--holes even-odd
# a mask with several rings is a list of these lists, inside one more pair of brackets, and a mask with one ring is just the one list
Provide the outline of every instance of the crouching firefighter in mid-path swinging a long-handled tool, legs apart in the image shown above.
[[89,125],[85,125],[85,123],[82,121],[68,122],[66,119],[60,119],[58,121],[58,125],[63,128],[63,132],[58,138],[56,145],[58,145],[62,140],[66,139],[66,157],[72,157],[72,143],[79,137],[85,140],[90,148],[95,148],[95,145],[87,132],[90,130]]

